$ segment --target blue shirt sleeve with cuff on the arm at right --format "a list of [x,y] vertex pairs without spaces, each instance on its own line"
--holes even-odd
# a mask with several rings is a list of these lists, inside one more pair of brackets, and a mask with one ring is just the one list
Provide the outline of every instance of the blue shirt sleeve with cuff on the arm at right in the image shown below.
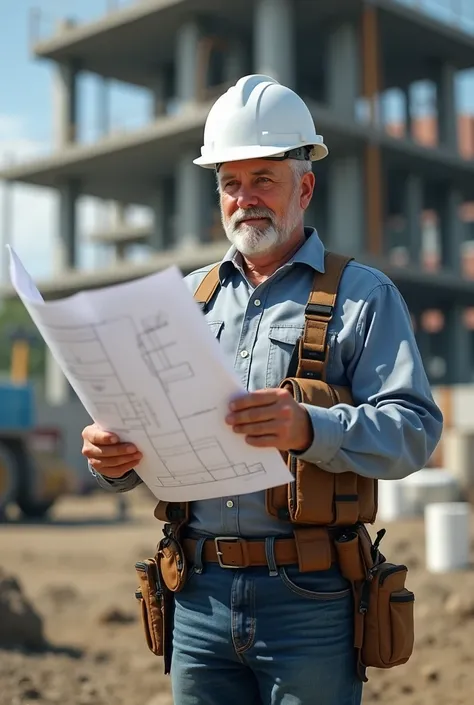
[[435,404],[410,315],[393,284],[376,286],[355,330],[346,362],[354,406],[305,405],[314,437],[300,459],[329,472],[401,479],[423,468],[443,417]]

